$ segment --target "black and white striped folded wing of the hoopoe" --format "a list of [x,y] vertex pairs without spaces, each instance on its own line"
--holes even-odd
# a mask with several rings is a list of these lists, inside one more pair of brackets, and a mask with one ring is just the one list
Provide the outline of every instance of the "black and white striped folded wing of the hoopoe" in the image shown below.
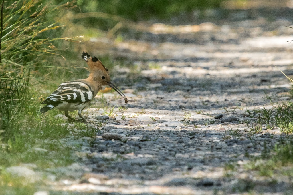
[[42,104],[57,105],[66,101],[67,103],[83,103],[93,99],[93,89],[81,81],[70,81],[60,84]]

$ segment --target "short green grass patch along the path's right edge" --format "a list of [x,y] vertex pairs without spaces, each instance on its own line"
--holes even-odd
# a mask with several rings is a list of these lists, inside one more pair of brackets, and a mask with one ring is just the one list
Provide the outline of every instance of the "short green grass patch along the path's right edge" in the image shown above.
[[[253,112],[259,114],[255,121],[258,125],[250,127],[248,138],[253,139],[255,134],[262,133],[262,125],[267,127],[279,127],[281,135],[273,135],[277,139],[275,148],[270,149],[267,142],[263,142],[263,149],[259,156],[250,156],[248,163],[236,165],[233,172],[242,169],[253,177],[260,177],[268,184],[276,184],[278,178],[283,180],[287,177],[290,181],[293,178],[293,103],[288,102],[275,106],[272,109],[255,109]],[[251,114],[253,112],[250,112]],[[268,128],[269,129],[269,128]],[[231,171],[227,175],[233,175]],[[252,183],[253,184],[253,183]],[[253,190],[253,187],[250,188]]]

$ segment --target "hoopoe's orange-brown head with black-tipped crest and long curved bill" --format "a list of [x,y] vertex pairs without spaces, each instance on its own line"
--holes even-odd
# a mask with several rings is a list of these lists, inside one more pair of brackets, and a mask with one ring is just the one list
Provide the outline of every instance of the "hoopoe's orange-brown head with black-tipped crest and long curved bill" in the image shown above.
[[81,57],[88,64],[88,68],[91,72],[91,76],[94,82],[98,82],[100,85],[109,85],[112,87],[122,98],[125,103],[128,102],[126,96],[118,89],[111,81],[108,68],[106,68],[102,62],[96,57],[91,57],[88,53],[83,52]]

